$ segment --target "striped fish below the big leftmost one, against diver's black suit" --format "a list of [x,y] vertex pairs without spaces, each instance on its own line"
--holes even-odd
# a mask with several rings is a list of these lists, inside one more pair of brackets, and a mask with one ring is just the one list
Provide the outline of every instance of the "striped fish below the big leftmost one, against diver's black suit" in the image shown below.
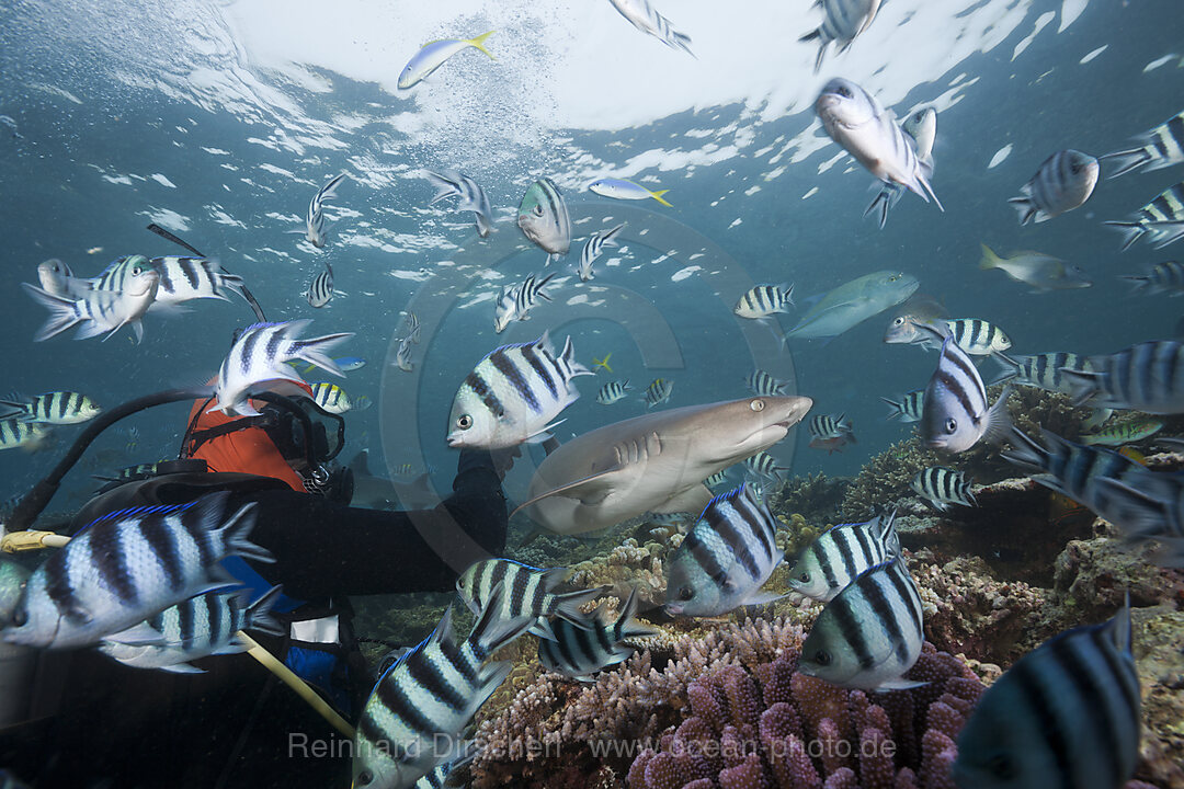
[[272,587],[253,603],[250,593],[208,591],[166,608],[148,619],[148,627],[160,633],[162,644],[120,644],[103,641],[98,651],[133,668],[159,668],[179,674],[202,674],[189,661],[208,655],[246,652],[239,630],[262,630],[284,635],[271,616],[271,607],[282,587]]

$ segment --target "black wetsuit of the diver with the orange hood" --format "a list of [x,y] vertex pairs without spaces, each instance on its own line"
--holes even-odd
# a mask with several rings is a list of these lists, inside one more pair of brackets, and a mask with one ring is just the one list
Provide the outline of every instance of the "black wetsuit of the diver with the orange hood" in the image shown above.
[[[155,498],[184,491],[156,487]],[[253,569],[301,600],[450,591],[469,563],[506,543],[506,500],[487,453],[462,453],[452,496],[432,510],[361,510],[266,483],[232,490],[232,505],[257,504],[250,538],[276,557]],[[274,653],[284,646],[258,640]],[[0,730],[0,768],[36,789],[349,785],[350,743],[255,659],[198,662],[207,673],[130,668],[95,649],[41,653],[34,714],[49,714]],[[358,690],[363,698],[369,687]]]

